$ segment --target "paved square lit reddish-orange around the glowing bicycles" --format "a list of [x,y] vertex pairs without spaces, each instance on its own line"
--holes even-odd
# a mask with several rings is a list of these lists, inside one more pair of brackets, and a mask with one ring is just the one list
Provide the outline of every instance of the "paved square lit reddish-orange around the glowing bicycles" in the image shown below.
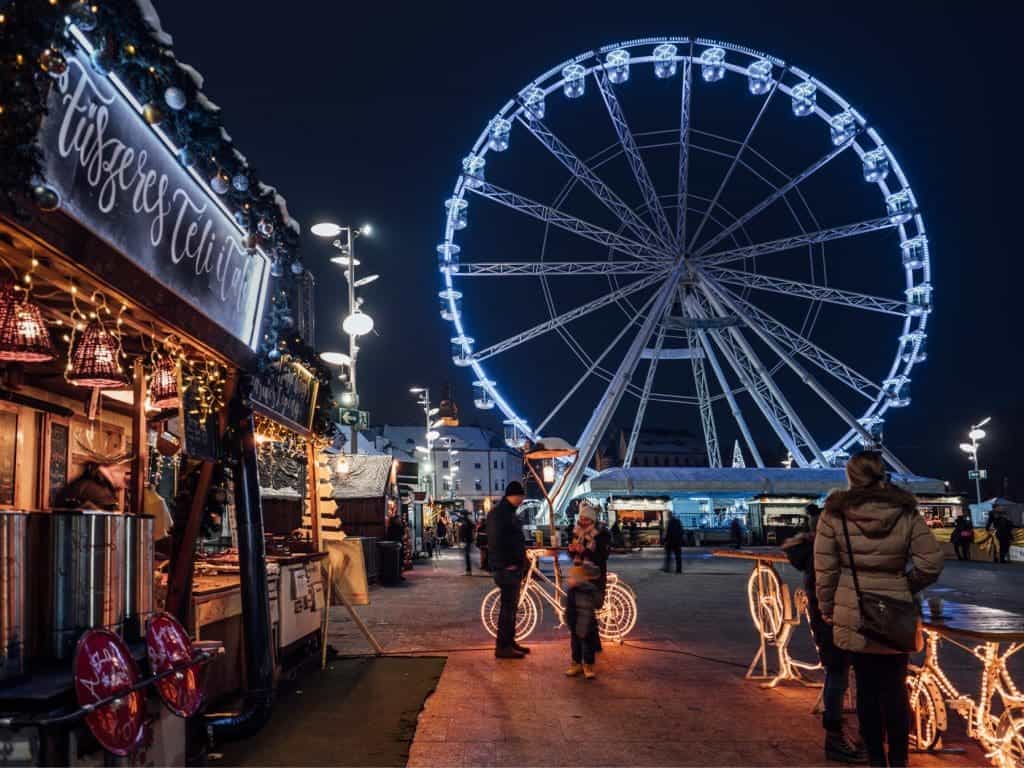
[[[374,588],[357,608],[389,653],[447,656],[419,718],[411,766],[484,765],[818,765],[822,732],[811,714],[817,690],[786,684],[762,690],[743,679],[757,649],[746,610],[750,564],[686,552],[684,573],[659,570],[659,552],[613,556],[610,569],[637,592],[639,621],[622,646],[598,659],[598,679],[568,679],[564,630],[550,607],[523,660],[497,660],[479,618],[489,578],[462,574],[461,553],[417,564],[401,587]],[[795,587],[799,574],[779,573]],[[947,562],[938,586],[949,599],[1024,612],[1024,568]],[[369,646],[343,608],[332,644]],[[791,646],[813,658],[805,628]],[[977,689],[969,657],[945,669]],[[1024,671],[1016,669],[1018,680]],[[848,716],[851,727],[855,716]],[[914,765],[981,765],[984,756],[950,714],[947,742],[962,755],[914,755]]]

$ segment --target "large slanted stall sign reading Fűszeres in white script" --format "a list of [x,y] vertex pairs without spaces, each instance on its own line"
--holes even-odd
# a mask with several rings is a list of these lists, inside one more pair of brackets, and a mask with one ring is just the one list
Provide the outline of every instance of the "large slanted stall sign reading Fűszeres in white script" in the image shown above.
[[53,82],[39,145],[61,210],[256,348],[269,261],[81,49]]

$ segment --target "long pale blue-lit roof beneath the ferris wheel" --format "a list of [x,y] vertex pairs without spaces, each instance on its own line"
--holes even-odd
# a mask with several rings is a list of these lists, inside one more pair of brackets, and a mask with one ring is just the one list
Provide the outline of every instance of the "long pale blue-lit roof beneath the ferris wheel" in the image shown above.
[[[941,480],[893,475],[915,494],[941,494]],[[820,496],[846,487],[842,469],[757,469],[737,467],[611,467],[584,481],[575,496],[664,495],[678,493],[801,494]]]

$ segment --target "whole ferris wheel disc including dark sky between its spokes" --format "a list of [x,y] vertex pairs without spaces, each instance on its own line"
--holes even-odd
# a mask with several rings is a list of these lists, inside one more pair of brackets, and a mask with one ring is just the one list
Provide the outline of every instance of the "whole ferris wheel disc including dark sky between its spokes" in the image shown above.
[[908,472],[882,428],[927,358],[929,243],[893,151],[820,80],[713,40],[617,43],[528,83],[460,170],[436,249],[453,361],[510,444],[579,435],[566,487],[624,420],[630,466],[652,409],[699,424],[713,467],[733,437],[757,466],[865,445]]

